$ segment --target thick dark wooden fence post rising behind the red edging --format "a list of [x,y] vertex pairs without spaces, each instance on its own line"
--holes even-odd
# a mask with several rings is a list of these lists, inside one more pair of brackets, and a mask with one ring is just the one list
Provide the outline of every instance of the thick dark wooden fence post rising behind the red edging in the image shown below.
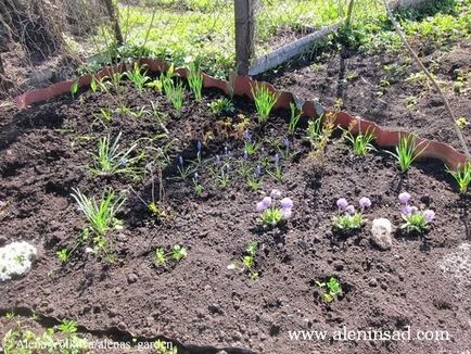
[[254,54],[254,1],[234,0],[236,11],[236,69],[247,75],[251,56]]

